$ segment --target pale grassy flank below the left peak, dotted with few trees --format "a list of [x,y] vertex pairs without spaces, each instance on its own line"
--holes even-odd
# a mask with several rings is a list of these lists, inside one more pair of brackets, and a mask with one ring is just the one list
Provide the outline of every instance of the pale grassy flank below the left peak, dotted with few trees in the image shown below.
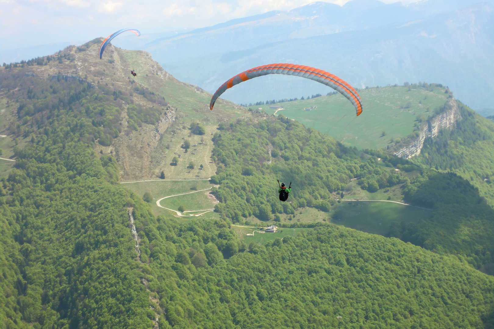
[[[210,160],[213,148],[211,138],[217,131],[218,124],[235,121],[241,116],[250,116],[251,112],[224,100],[218,100],[211,111],[211,94],[199,87],[175,80],[171,75],[171,78],[162,79],[151,74],[153,71],[148,67],[149,61],[143,60],[142,51],[119,51],[119,57],[124,67],[135,69],[138,73],[132,78],[136,83],[165,97],[166,102],[176,109],[175,121],[163,132],[158,145],[150,153],[154,175],[159,177],[162,171],[167,179],[207,179],[214,175],[216,165]],[[191,134],[189,127],[193,122],[200,123],[205,128],[204,135]],[[182,147],[185,140],[196,146],[191,146],[186,152]],[[175,156],[179,159],[176,166],[171,163]],[[194,169],[188,168],[191,161],[195,164]],[[203,169],[200,169],[201,164]]]

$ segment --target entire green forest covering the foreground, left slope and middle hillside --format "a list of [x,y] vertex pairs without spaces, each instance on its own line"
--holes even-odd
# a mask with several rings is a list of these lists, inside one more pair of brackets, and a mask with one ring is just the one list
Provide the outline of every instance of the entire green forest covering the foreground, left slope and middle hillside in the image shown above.
[[[494,328],[494,278],[479,271],[492,268],[493,210],[461,175],[345,147],[283,115],[247,117],[209,137],[220,218],[155,216],[93,149],[129,133],[124,92],[26,73],[0,74],[17,107],[9,133],[25,141],[0,179],[1,329]],[[158,110],[127,111],[136,130]],[[264,245],[232,229],[327,212],[355,178],[370,192],[399,186],[432,219],[389,237],[305,223]],[[292,182],[289,202],[277,180]]]

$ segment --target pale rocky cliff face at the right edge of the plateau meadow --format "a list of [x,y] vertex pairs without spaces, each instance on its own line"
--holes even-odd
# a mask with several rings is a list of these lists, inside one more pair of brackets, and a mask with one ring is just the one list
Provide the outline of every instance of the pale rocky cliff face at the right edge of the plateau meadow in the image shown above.
[[393,152],[393,154],[401,158],[410,159],[412,156],[420,154],[422,146],[424,145],[424,140],[427,137],[434,138],[441,128],[453,127],[456,120],[461,120],[456,100],[452,97],[448,100],[448,103],[450,105],[449,110],[438,114],[430,122],[422,123],[418,137],[403,143],[404,145],[402,145],[398,151]]

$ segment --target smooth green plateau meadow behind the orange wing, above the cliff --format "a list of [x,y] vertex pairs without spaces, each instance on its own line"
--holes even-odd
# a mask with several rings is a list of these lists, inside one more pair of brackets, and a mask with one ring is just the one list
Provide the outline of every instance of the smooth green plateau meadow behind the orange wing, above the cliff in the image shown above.
[[[364,109],[362,114],[355,116],[355,108],[341,94],[321,96],[306,100],[260,105],[268,114],[276,109],[270,106],[281,106],[276,115],[283,114],[289,118],[312,127],[346,146],[362,148],[382,148],[390,143],[390,139],[403,138],[413,132],[416,117],[429,115],[436,107],[446,102],[445,88],[435,87],[432,91],[426,88],[417,89],[404,86],[388,86],[359,90]],[[307,108],[317,108],[304,110]],[[254,107],[251,107],[254,108]],[[382,136],[382,131],[385,135]]]

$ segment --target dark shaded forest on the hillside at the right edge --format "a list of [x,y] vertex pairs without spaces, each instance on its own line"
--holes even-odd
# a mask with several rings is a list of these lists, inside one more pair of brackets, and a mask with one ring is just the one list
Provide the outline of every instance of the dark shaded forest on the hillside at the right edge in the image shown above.
[[464,256],[494,274],[494,210],[470,182],[453,173],[424,172],[428,179],[404,190],[405,201],[434,209],[429,220],[395,223],[387,234],[439,254]]

